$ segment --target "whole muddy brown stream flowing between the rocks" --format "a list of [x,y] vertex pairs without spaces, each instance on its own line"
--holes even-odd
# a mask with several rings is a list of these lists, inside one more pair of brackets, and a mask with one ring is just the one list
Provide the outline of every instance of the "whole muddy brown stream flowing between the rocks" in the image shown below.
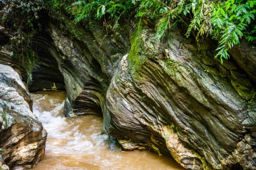
[[99,116],[63,117],[64,91],[33,93],[34,114],[48,132],[44,159],[34,170],[45,169],[183,169],[170,157],[149,151],[110,151],[101,134]]

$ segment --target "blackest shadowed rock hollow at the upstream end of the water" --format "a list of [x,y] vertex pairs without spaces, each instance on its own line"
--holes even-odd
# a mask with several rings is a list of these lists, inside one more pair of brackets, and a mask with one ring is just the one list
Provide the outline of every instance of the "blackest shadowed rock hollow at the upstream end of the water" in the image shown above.
[[32,40],[34,63],[31,69],[31,79],[28,83],[30,92],[65,89],[63,75],[59,71],[58,63],[49,52],[49,46],[44,46],[44,41],[47,41],[47,38],[47,34],[38,32]]

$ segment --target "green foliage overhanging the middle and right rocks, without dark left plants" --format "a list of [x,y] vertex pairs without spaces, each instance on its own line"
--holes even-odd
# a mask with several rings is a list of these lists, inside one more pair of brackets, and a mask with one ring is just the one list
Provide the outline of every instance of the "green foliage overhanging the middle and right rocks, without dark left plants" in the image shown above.
[[71,6],[75,22],[102,17],[118,21],[127,13],[138,19],[152,19],[156,21],[156,38],[161,38],[177,22],[183,22],[187,25],[185,35],[192,33],[199,46],[204,36],[218,40],[216,58],[221,62],[229,57],[228,50],[239,44],[243,37],[250,41],[256,39],[255,0],[98,0],[76,1]]

